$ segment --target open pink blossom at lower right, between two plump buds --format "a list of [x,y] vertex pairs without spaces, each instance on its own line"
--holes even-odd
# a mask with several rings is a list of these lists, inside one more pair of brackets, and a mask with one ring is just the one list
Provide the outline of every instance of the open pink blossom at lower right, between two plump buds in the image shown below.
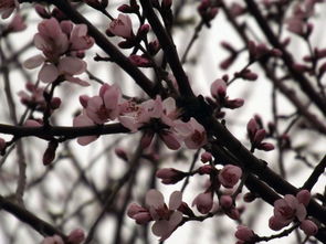
[[290,224],[295,218],[298,221],[303,221],[307,215],[307,211],[304,204],[292,195],[286,194],[284,199],[278,199],[274,202],[274,216],[284,226]]

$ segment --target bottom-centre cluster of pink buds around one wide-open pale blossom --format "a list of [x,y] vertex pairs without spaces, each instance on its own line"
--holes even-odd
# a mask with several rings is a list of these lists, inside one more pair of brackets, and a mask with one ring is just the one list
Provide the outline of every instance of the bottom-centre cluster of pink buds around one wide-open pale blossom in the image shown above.
[[[202,158],[211,160],[211,155],[204,152]],[[242,170],[236,166],[227,165],[222,170],[217,170],[214,167],[207,165],[194,170],[193,173],[215,176],[217,188],[223,185],[227,189],[232,189],[240,180]],[[191,174],[193,174],[191,173]],[[217,174],[218,173],[218,174]],[[173,184],[189,176],[172,168],[160,169],[156,177],[162,180],[162,183]],[[196,205],[198,212],[208,214],[213,209],[224,212],[233,220],[239,220],[240,213],[233,205],[231,195],[222,194],[220,198],[220,206],[213,202],[214,189],[213,183],[210,183],[208,189],[198,194],[193,201],[192,206]],[[213,206],[217,208],[213,208]],[[194,218],[194,213],[186,202],[182,202],[181,192],[175,191],[170,195],[169,204],[165,204],[162,194],[157,190],[149,190],[146,194],[146,206],[140,206],[132,203],[127,212],[128,216],[134,219],[137,224],[147,224],[155,221],[153,225],[153,233],[160,236],[160,241],[166,240],[179,226],[183,220],[183,215]]]

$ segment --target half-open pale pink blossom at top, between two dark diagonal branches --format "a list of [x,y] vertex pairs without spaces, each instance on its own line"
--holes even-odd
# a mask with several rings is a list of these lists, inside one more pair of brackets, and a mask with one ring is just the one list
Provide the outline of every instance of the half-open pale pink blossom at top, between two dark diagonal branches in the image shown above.
[[119,14],[117,19],[113,20],[109,24],[109,31],[118,36],[129,39],[134,35],[133,23],[129,15]]

